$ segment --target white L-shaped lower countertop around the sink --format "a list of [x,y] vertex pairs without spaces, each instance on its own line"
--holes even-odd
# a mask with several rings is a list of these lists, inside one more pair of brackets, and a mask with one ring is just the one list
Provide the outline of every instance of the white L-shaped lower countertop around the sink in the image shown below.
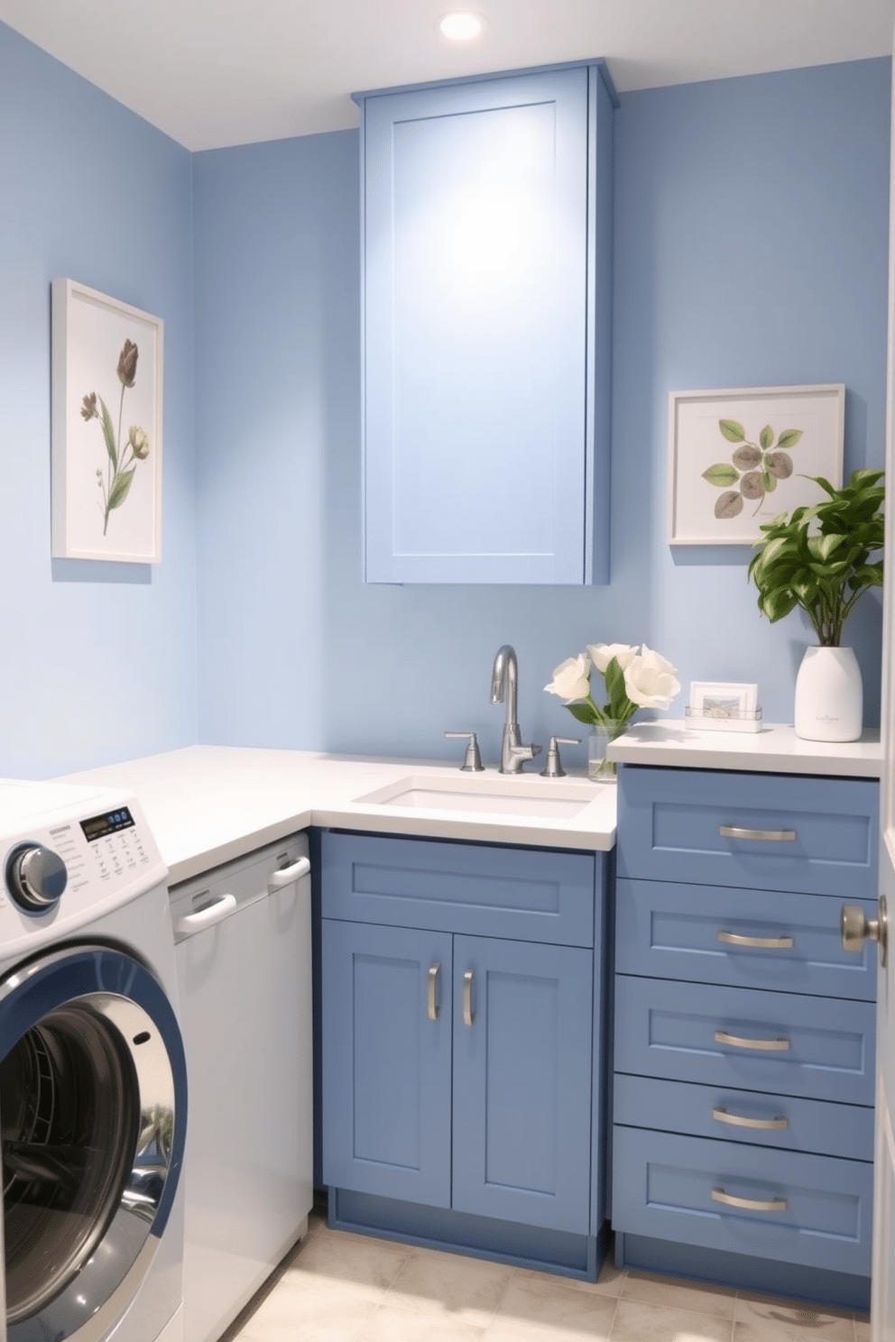
[[[403,780],[411,780],[417,792],[415,805],[365,800],[370,793],[394,792]],[[507,777],[496,769],[467,774],[456,765],[419,760],[187,746],[58,781],[136,793],[172,884],[307,825],[597,852],[607,852],[616,840],[615,785],[589,782],[572,772],[565,778],[542,778],[537,772]],[[460,809],[463,798],[456,796],[445,797],[443,805],[425,805],[428,798],[419,793],[439,786],[490,794],[495,808],[514,805],[514,798],[535,808],[543,798],[547,807],[570,798],[568,809],[576,803],[581,809],[568,819],[499,813],[486,809],[488,803]]]

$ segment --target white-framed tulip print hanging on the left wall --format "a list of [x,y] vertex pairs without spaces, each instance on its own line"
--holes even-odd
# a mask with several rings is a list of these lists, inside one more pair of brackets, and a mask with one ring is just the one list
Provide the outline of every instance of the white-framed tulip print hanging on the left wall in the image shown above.
[[52,280],[54,558],[161,561],[164,322]]

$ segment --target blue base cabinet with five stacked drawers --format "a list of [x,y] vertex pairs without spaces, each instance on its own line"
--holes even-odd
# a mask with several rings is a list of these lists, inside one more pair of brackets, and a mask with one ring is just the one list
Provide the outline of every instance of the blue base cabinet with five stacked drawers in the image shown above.
[[624,765],[612,1224],[620,1264],[867,1308],[874,780]]

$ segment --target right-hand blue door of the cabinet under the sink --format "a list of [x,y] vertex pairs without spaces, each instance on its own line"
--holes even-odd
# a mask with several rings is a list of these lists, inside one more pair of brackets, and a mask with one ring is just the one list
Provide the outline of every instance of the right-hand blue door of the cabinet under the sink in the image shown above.
[[455,1210],[589,1233],[592,1021],[588,950],[454,938]]

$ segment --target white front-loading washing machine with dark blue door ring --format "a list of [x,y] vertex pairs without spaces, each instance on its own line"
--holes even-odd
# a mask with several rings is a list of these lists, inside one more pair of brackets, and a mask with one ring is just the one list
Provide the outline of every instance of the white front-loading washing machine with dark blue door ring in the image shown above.
[[187,1068],[136,798],[0,781],[4,1342],[178,1342]]

